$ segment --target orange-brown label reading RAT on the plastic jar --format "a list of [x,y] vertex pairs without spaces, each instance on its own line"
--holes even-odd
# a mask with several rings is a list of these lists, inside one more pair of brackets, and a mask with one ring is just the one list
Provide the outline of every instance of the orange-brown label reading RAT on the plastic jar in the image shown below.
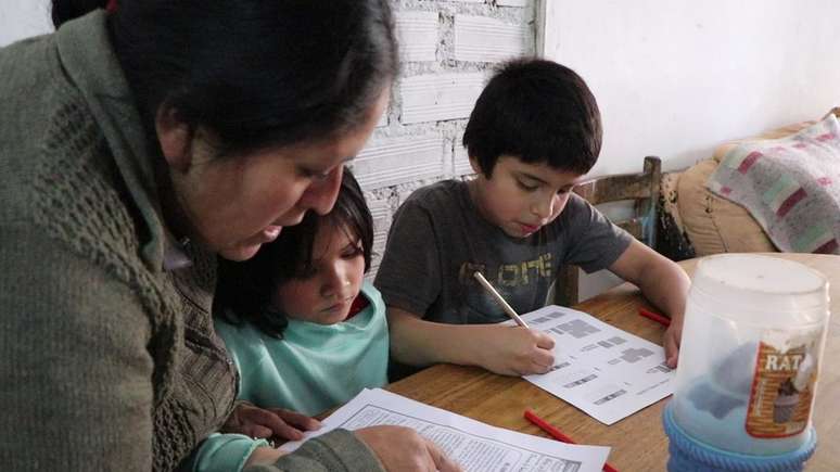
[[822,339],[822,329],[762,336],[744,425],[750,436],[787,437],[807,428]]

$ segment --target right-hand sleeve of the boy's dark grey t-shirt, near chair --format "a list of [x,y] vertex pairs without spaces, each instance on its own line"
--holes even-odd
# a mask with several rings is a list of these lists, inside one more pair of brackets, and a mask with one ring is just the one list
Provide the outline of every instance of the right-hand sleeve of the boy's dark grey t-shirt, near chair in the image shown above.
[[572,195],[563,213],[569,238],[563,263],[578,266],[586,273],[610,267],[633,241],[633,235],[577,195]]

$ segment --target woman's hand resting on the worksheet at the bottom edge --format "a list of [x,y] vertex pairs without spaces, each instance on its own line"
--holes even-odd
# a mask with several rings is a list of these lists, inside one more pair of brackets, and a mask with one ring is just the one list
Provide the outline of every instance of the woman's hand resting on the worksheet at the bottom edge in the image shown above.
[[370,426],[354,431],[387,471],[460,472],[434,443],[403,426]]

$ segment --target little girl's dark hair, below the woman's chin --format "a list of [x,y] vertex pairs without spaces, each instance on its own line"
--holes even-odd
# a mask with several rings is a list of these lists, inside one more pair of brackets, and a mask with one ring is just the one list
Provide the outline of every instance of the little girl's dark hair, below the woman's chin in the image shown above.
[[288,320],[271,306],[271,297],[283,283],[308,273],[313,243],[321,228],[345,231],[351,240],[358,238],[367,272],[373,251],[373,218],[365,194],[347,169],[344,169],[335,206],[329,214],[307,212],[300,225],[283,228],[277,240],[263,244],[249,260],[219,258],[214,299],[216,316],[237,326],[250,322],[270,336],[282,337]]

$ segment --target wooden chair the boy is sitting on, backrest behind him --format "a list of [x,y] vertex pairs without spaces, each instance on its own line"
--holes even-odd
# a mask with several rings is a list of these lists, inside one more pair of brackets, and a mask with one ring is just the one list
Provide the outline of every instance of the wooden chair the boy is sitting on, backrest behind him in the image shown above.
[[[656,247],[657,218],[659,215],[659,186],[662,177],[662,162],[659,157],[645,157],[641,174],[619,174],[595,177],[574,188],[574,193],[598,206],[619,201],[635,201],[633,216],[627,219],[612,219],[620,228],[636,239]],[[580,302],[577,266],[565,266],[555,283],[555,303],[571,306]]]

